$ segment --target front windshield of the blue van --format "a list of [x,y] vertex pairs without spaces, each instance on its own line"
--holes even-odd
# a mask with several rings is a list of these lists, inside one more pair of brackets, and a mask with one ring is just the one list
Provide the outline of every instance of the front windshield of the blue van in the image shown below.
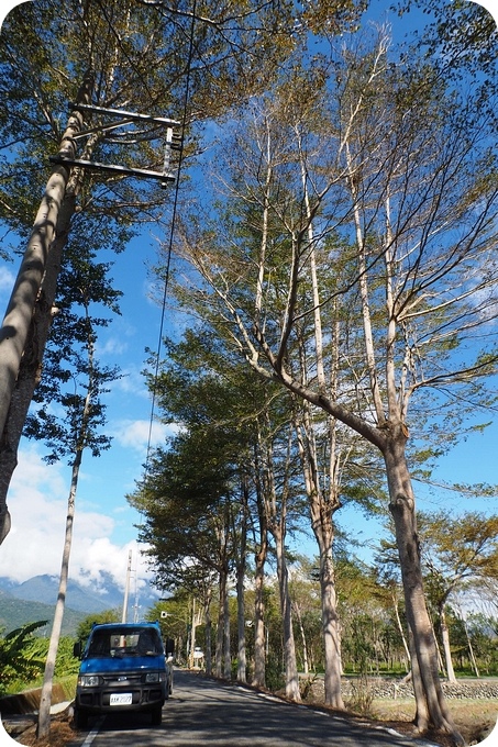
[[111,631],[93,631],[88,656],[124,657],[158,656],[163,654],[161,638],[154,629],[112,628]]

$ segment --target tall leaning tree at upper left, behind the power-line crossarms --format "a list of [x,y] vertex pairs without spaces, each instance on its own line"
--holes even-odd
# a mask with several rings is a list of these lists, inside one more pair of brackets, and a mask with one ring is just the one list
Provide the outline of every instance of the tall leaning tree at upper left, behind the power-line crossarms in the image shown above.
[[[155,220],[164,210],[163,194],[155,186],[141,182],[139,191],[136,180],[122,174],[90,175],[63,164],[46,181],[47,157],[58,150],[59,159],[78,155],[162,170],[164,126],[144,120],[136,123],[133,118],[121,119],[119,126],[120,120],[109,120],[102,109],[150,115],[176,109],[177,116],[184,114],[186,127],[220,115],[233,100],[264,89],[275,75],[275,63],[295,44],[283,31],[290,12],[290,7],[270,9],[266,3],[247,11],[237,0],[209,7],[206,13],[193,13],[188,3],[166,9],[146,0],[124,4],[71,0],[63,8],[55,0],[35,0],[15,8],[2,24],[0,92],[5,110],[0,118],[0,218],[22,241],[30,234],[31,238],[0,333],[4,350],[0,448],[16,454],[19,424],[40,375],[60,253],[77,212],[130,225],[132,220]],[[268,52],[272,64],[265,64]],[[74,109],[64,132],[60,112],[73,101],[98,109]],[[44,181],[36,212],[33,194]],[[24,353],[30,365],[23,361]],[[23,363],[23,387],[15,391]],[[14,461],[11,457],[10,462]],[[5,472],[7,486],[9,480]],[[4,494],[0,521],[1,542],[10,526]]]

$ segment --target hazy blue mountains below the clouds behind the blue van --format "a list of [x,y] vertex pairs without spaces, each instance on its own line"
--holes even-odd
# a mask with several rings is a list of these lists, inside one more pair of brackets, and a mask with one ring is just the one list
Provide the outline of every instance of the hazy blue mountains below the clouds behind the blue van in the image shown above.
[[[34,576],[22,583],[0,577],[0,626],[5,627],[8,632],[35,620],[52,621],[57,592],[58,577],[56,576]],[[131,620],[135,603],[132,590],[129,599],[129,618]],[[153,590],[147,589],[141,592],[136,599],[139,616],[144,617],[148,607],[156,601],[157,593]],[[123,591],[109,573],[102,575],[98,586],[95,582],[82,584],[69,580],[64,625],[71,629],[74,627],[76,631],[78,623],[92,612],[122,609],[122,605]]]

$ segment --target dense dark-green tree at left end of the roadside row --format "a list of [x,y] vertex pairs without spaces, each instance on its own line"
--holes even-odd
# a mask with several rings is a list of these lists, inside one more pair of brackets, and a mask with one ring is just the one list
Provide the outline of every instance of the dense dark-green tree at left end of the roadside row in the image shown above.
[[130,500],[146,516],[142,536],[162,587],[185,587],[185,575],[215,575],[220,602],[215,671],[230,678],[230,576],[236,564],[244,567],[241,553],[245,553],[244,522],[239,521],[247,499],[245,436],[226,413],[231,400],[236,409],[233,392],[217,376],[196,372],[198,344],[191,333],[188,338],[192,349],[180,345],[176,357],[190,361],[189,375],[170,365],[157,381],[151,379],[164,403],[163,417],[177,419],[182,431],[157,451],[143,486]]

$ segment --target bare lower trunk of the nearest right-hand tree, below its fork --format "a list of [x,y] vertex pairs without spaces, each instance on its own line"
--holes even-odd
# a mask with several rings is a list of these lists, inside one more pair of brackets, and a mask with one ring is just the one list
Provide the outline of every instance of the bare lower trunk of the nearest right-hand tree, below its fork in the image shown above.
[[[438,672],[438,650],[423,593],[414,495],[405,456],[406,435],[401,424],[398,427],[390,424],[388,427],[390,433],[386,439],[384,458],[389,487],[389,509],[396,527],[407,618],[413,635],[413,654],[422,683],[422,691],[416,691],[418,727],[425,731],[432,725],[451,734],[455,744],[463,745],[444,703]],[[419,702],[422,698],[423,703]]]

